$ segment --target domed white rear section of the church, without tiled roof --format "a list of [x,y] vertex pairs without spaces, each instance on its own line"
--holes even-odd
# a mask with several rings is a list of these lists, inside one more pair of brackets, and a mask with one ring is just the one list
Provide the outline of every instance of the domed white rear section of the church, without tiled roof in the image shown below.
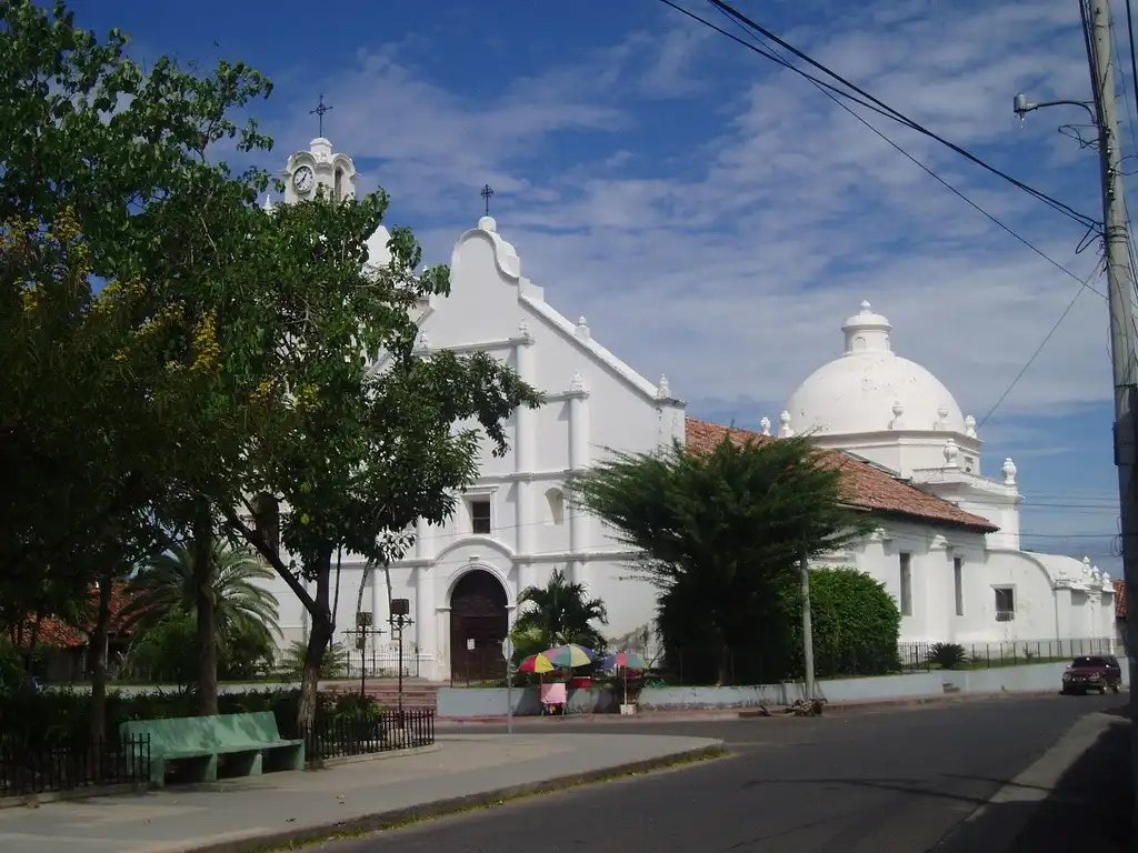
[[[868,303],[842,325],[846,351],[791,395],[782,429],[881,466],[978,523],[883,522],[839,562],[884,581],[905,640],[964,644],[1114,636],[1114,586],[1083,558],[1020,549],[1017,470],[983,475],[976,421],[929,371],[893,353]],[[872,507],[867,507],[872,508]],[[939,512],[943,512],[941,510]],[[962,512],[963,511],[963,512]],[[979,516],[979,517],[978,517]]]

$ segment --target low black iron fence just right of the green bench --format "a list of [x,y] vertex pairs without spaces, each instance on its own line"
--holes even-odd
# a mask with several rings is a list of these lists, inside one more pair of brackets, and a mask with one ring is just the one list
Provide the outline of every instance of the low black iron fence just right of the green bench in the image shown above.
[[430,709],[384,711],[361,717],[336,717],[305,732],[310,763],[352,755],[372,755],[435,743],[435,712]]

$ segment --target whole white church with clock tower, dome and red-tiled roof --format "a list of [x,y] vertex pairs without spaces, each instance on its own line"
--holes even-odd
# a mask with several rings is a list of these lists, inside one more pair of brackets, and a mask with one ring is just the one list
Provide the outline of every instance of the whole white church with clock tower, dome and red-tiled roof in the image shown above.
[[[316,188],[354,196],[351,159],[327,139],[289,158],[284,202]],[[267,202],[266,202],[267,206]],[[370,264],[387,262],[385,229],[369,241]],[[422,305],[419,350],[488,351],[545,395],[520,409],[510,452],[483,459],[481,475],[445,527],[420,523],[414,549],[390,568],[393,594],[409,602],[410,671],[432,680],[496,669],[521,589],[555,569],[604,601],[611,637],[651,623],[654,589],[628,577],[632,556],[596,519],[574,511],[567,481],[604,448],[650,452],[674,439],[693,450],[727,432],[754,433],[686,416],[666,379],[651,382],[569,320],[522,274],[514,247],[490,216],[459,237],[452,292]],[[1004,459],[986,477],[976,423],[929,371],[896,355],[891,325],[868,303],[842,325],[846,351],[791,396],[769,440],[810,432],[838,454],[848,502],[874,513],[864,541],[819,563],[853,565],[882,581],[900,607],[902,641],[1017,644],[1114,637],[1114,586],[1088,560],[1020,547],[1017,470]],[[762,434],[772,424],[762,419]],[[341,558],[337,640],[355,648],[356,602],[385,635],[365,660],[394,668],[384,574],[364,583],[363,560]],[[283,583],[283,643],[304,639],[304,608]]]

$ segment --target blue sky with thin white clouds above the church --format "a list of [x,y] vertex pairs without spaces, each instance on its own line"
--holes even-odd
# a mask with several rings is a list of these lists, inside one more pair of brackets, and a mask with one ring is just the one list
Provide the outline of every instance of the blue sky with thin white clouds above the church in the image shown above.
[[[702,0],[682,3],[733,30]],[[445,262],[495,189],[498,229],[563,314],[694,416],[757,425],[841,348],[869,299],[897,350],[982,421],[984,470],[1016,459],[1025,544],[1116,573],[1105,301],[940,187],[809,83],[654,0],[376,3],[76,0],[132,53],[244,59],[275,83],[254,114],[266,166],[325,135]],[[1020,91],[1083,99],[1072,0],[739,0],[890,106],[1098,216],[1097,162]],[[1120,19],[1121,23],[1121,19]],[[1124,32],[1124,30],[1122,31]],[[742,33],[740,33],[742,34]],[[1129,67],[1124,56],[1123,66]],[[1130,81],[1127,80],[1129,86]],[[1132,90],[1123,99],[1128,156]],[[1079,278],[1083,229],[937,143],[863,113]],[[1086,134],[1086,130],[1083,129]],[[1102,290],[1102,283],[1092,280]]]

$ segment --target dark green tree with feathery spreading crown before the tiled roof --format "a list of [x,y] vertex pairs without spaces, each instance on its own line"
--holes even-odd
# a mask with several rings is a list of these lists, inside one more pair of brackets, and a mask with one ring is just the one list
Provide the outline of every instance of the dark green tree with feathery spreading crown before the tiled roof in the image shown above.
[[615,453],[574,480],[574,502],[640,556],[660,591],[658,624],[685,677],[754,680],[792,665],[783,590],[803,553],[840,549],[867,517],[807,437],[727,432],[706,454],[683,444]]

